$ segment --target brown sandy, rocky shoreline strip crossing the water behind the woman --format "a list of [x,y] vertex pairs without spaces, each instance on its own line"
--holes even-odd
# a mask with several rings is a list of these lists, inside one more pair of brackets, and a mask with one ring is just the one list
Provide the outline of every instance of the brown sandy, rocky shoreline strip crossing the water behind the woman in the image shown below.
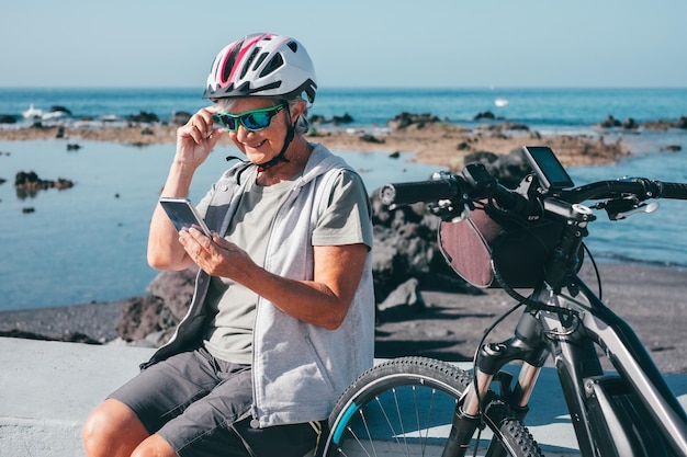
[[[530,130],[525,125],[506,122],[485,122],[475,128],[444,123],[427,115],[401,113],[388,121],[388,128],[345,128],[329,123],[313,124],[312,141],[323,142],[334,151],[362,151],[415,155],[415,161],[451,170],[462,168],[464,157],[474,152],[506,155],[526,145],[550,146],[566,167],[612,163],[631,153],[621,133],[633,129],[612,127],[606,132],[599,125],[598,137],[586,135],[550,135]],[[71,148],[78,141],[113,141],[143,147],[154,144],[173,144],[178,125],[172,123],[126,123],[120,126],[75,126],[41,124],[25,128],[0,128],[0,140],[60,139]],[[606,140],[604,134],[613,137]],[[222,141],[230,142],[228,138]]]

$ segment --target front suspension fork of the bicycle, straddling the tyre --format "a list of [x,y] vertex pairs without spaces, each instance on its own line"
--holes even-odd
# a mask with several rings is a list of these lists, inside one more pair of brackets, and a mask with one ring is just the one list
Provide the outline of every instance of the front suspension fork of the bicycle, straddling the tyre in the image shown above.
[[[480,424],[481,402],[494,380],[500,382],[500,395],[520,420],[529,411],[528,403],[541,368],[549,356],[549,346],[541,324],[533,311],[520,317],[515,335],[503,343],[487,343],[480,349],[475,379],[455,407],[453,424],[442,457],[464,456],[470,441]],[[513,361],[522,361],[517,382],[510,387],[511,377],[500,369]]]

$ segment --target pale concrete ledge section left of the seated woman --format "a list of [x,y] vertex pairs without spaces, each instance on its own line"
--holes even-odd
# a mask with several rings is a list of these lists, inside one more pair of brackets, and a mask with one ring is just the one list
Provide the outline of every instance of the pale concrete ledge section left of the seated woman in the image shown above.
[[153,351],[0,338],[0,455],[83,456],[83,421]]

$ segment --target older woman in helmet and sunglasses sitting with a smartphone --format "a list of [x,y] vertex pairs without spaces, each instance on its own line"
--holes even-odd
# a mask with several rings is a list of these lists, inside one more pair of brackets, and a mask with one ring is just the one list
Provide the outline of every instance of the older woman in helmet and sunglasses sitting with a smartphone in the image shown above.
[[[178,129],[162,196],[187,197],[219,138],[245,160],[199,203],[213,231],[150,221],[148,262],[200,267],[174,335],[83,425],[87,455],[303,456],[372,365],[372,224],[360,176],[309,142],[317,84],[301,43],[256,34],[215,57]],[[218,119],[218,123],[214,123]]]

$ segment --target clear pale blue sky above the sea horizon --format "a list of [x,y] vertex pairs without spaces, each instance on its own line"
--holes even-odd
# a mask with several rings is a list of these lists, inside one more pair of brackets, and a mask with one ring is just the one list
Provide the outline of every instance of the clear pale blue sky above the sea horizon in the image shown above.
[[7,0],[0,87],[202,87],[254,32],[320,87],[687,87],[685,0]]

